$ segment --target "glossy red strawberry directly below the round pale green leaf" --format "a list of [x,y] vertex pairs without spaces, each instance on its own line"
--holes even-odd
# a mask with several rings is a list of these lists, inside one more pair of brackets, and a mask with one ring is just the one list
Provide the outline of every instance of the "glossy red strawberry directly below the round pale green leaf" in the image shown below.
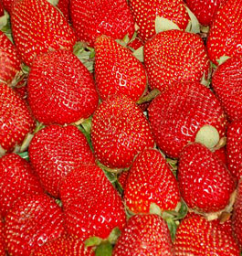
[[178,165],[181,195],[189,208],[215,212],[226,208],[235,180],[226,165],[203,144],[184,147]]

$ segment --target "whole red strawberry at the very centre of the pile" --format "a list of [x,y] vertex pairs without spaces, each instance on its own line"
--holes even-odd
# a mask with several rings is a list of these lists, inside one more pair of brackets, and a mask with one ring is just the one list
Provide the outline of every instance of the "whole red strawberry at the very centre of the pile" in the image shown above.
[[126,168],[145,147],[153,147],[150,125],[135,102],[112,95],[93,115],[91,141],[100,163]]

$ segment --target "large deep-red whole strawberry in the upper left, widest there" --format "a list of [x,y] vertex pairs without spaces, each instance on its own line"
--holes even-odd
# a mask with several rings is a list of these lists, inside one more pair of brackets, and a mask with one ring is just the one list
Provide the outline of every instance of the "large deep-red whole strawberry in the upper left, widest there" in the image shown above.
[[42,123],[75,123],[98,106],[98,93],[89,70],[67,50],[40,54],[27,82],[28,102]]

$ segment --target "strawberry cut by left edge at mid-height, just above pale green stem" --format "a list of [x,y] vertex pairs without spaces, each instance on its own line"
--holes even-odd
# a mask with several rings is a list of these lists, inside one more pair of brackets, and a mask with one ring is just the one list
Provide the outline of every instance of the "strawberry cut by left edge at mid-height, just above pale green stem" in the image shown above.
[[11,151],[32,133],[35,122],[26,102],[13,89],[0,84],[0,144]]

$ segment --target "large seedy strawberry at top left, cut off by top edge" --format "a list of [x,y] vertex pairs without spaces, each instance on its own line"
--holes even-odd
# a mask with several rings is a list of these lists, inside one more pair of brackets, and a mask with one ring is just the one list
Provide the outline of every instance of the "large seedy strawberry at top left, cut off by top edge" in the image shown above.
[[72,50],[76,37],[68,21],[47,0],[16,0],[11,9],[16,48],[26,65],[50,48]]

